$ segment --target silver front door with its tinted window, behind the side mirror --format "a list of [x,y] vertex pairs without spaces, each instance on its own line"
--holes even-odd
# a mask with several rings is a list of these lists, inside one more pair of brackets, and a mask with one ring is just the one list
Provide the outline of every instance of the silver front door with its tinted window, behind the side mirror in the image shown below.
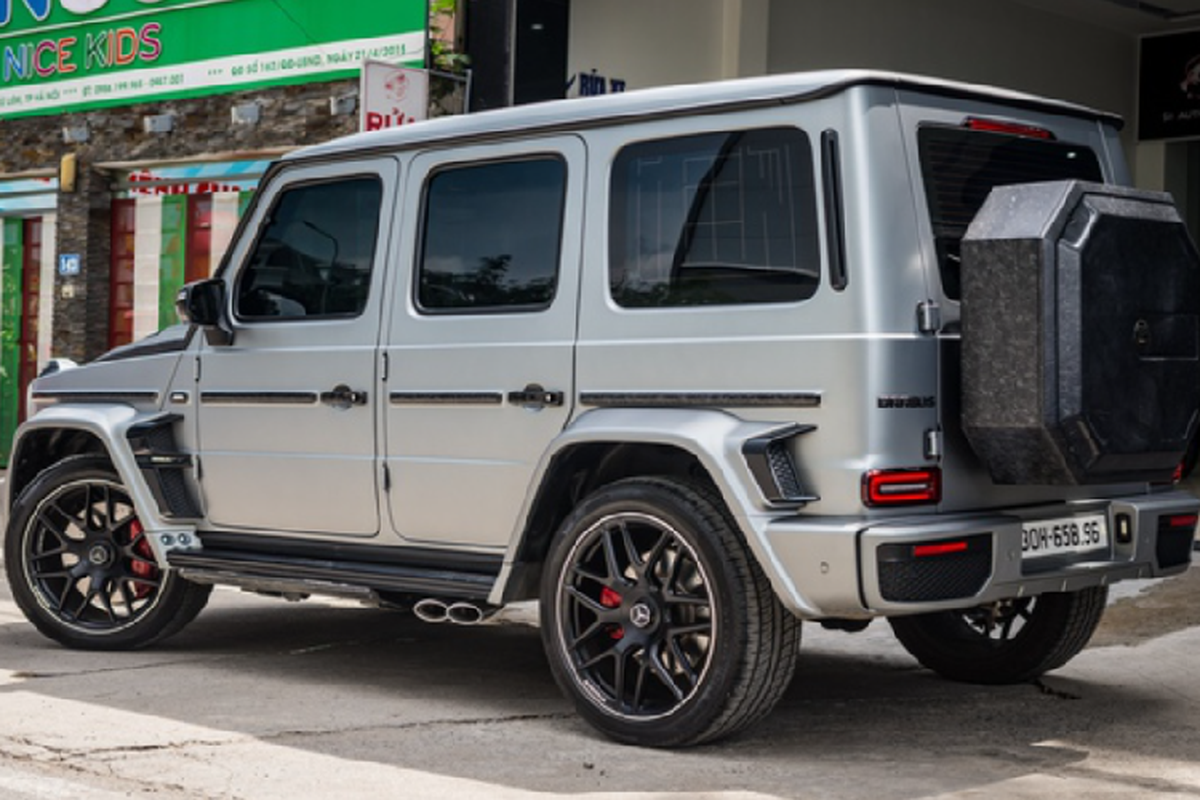
[[378,533],[380,295],[396,180],[391,158],[294,167],[259,198],[223,275],[233,343],[199,353],[210,525]]

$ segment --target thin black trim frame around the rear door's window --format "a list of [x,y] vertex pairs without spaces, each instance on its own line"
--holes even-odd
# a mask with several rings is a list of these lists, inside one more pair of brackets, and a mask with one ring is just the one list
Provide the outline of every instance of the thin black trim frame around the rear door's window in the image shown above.
[[[462,308],[430,308],[421,303],[421,276],[425,272],[425,243],[428,233],[430,184],[439,174],[454,169],[473,167],[491,167],[497,164],[515,164],[530,161],[556,161],[563,166],[562,198],[558,207],[558,237],[554,245],[557,259],[554,263],[554,290],[544,303],[518,303],[511,306],[469,306]],[[548,309],[558,300],[558,289],[563,276],[563,241],[566,233],[566,205],[570,197],[571,163],[566,154],[558,150],[539,150],[522,152],[516,156],[494,156],[479,160],[456,160],[433,164],[421,176],[421,199],[418,205],[416,241],[413,245],[413,269],[410,270],[409,300],[420,317],[497,317],[503,314],[532,314]]]

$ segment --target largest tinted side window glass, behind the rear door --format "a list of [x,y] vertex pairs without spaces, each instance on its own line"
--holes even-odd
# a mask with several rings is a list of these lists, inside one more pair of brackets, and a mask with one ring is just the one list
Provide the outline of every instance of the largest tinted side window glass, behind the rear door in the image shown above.
[[611,204],[622,306],[796,302],[821,283],[812,146],[797,128],[629,145]]

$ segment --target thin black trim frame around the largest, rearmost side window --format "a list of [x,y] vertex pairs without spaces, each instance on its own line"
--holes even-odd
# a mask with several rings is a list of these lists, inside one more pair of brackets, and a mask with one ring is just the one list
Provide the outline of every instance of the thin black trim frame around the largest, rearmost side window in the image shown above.
[[[808,169],[808,178],[811,188],[811,194],[809,197],[809,203],[811,206],[810,222],[812,223],[810,237],[812,239],[812,251],[814,251],[812,263],[815,264],[817,270],[815,281],[812,283],[811,294],[804,297],[799,297],[797,300],[776,300],[776,301],[764,301],[764,302],[739,301],[739,302],[721,302],[721,303],[679,303],[679,305],[655,305],[655,306],[629,306],[620,302],[620,300],[618,300],[616,294],[613,293],[612,259],[613,254],[618,249],[618,247],[616,246],[618,231],[614,221],[617,219],[618,216],[623,216],[623,213],[618,215],[618,211],[624,212],[626,203],[626,199],[624,197],[619,203],[614,200],[616,185],[618,181],[617,163],[620,160],[622,155],[630,148],[652,145],[655,143],[682,143],[685,139],[692,139],[700,137],[709,137],[709,136],[730,137],[734,134],[748,134],[763,131],[794,131],[803,139],[808,151],[806,154],[808,158],[800,161],[803,164],[805,164]],[[683,145],[677,144],[677,149],[679,146]],[[822,230],[821,230],[821,218],[820,218],[818,206],[821,204],[820,194],[822,192],[822,174],[818,169],[820,167],[817,163],[818,156],[820,156],[820,150],[817,149],[817,146],[815,146],[812,137],[809,134],[808,130],[800,127],[799,125],[790,125],[787,122],[779,122],[774,125],[748,125],[745,127],[720,127],[712,130],[688,131],[688,132],[671,133],[665,136],[631,139],[629,142],[622,143],[620,146],[616,149],[611,161],[608,162],[608,180],[607,180],[608,191],[606,196],[608,230],[604,234],[607,247],[607,258],[605,259],[605,291],[607,293],[606,296],[608,301],[616,308],[620,309],[622,313],[646,313],[646,312],[696,313],[703,311],[719,311],[725,308],[764,308],[764,307],[785,308],[788,306],[799,306],[811,301],[815,296],[817,296],[821,293],[824,283],[824,272],[826,272],[823,259],[821,255]],[[624,246],[624,242],[622,242],[622,245]]]

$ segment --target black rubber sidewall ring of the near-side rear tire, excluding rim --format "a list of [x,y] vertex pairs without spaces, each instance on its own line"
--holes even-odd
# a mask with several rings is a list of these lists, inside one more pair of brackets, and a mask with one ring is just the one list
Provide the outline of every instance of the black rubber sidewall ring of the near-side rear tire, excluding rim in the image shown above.
[[[712,509],[713,513],[718,513]],[[618,717],[593,704],[580,686],[571,655],[562,637],[560,588],[568,557],[578,539],[593,525],[616,513],[641,513],[670,527],[701,560],[708,576],[715,637],[700,687],[667,714],[635,721]],[[559,687],[590,724],[628,744],[670,746],[691,740],[708,729],[721,712],[725,698],[738,678],[746,636],[745,590],[726,555],[720,534],[710,530],[704,513],[654,481],[620,481],[581,503],[563,522],[551,545],[541,581],[541,636],[551,670]]]

